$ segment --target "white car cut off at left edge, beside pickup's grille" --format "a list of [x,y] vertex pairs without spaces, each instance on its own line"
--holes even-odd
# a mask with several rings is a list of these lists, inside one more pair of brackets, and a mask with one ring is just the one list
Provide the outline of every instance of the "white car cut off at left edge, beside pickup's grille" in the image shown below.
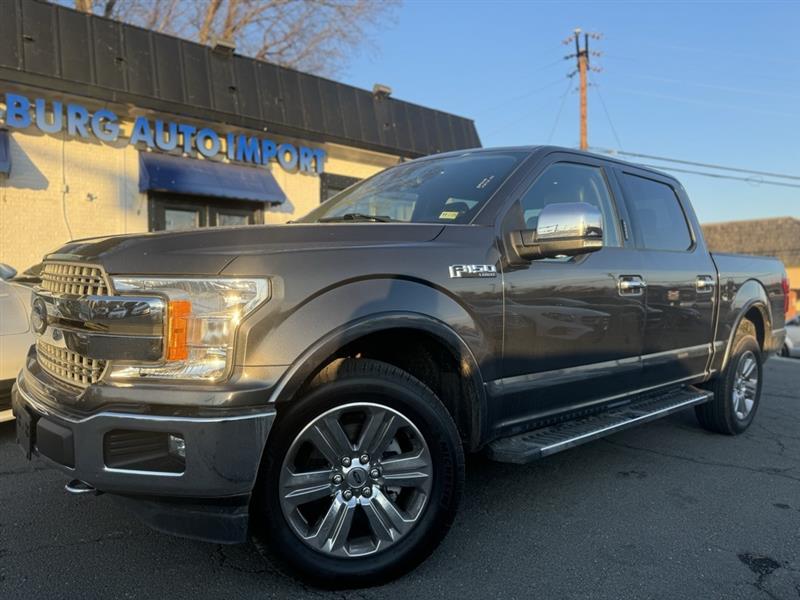
[[30,288],[11,281],[16,271],[0,263],[0,423],[13,419],[11,386],[33,344],[28,321]]

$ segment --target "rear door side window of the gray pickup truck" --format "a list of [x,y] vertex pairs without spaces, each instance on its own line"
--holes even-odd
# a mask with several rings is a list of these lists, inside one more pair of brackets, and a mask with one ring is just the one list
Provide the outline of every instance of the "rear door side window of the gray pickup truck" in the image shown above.
[[689,225],[675,190],[665,183],[624,174],[628,210],[644,247],[649,250],[688,250]]

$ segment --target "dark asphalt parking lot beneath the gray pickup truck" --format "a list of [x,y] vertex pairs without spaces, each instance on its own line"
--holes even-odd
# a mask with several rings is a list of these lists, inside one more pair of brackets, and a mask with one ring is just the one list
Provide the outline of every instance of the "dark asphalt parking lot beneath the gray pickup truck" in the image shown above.
[[526,467],[468,462],[455,528],[410,575],[330,593],[71,497],[0,425],[2,598],[800,598],[800,360],[767,363],[737,438],[691,411]]

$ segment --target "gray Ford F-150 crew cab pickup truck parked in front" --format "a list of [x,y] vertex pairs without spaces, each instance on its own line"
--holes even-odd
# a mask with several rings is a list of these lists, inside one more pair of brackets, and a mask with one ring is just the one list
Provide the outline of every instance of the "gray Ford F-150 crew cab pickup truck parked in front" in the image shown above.
[[18,441],[156,529],[370,585],[442,540],[465,453],[526,463],[690,407],[745,431],[787,287],[777,260],[709,253],[662,173],[423,158],[295,223],[48,255]]

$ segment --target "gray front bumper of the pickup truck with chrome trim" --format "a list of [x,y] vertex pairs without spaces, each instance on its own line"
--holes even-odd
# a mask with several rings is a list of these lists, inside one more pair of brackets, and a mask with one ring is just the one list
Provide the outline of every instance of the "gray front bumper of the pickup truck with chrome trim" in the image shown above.
[[[51,395],[43,395],[42,390],[48,389]],[[124,388],[115,393],[118,400],[124,401]],[[117,409],[77,414],[59,409],[52,399],[52,389],[31,370],[25,368],[20,373],[12,391],[12,408],[15,415],[25,411],[29,417],[26,421],[36,454],[72,479],[85,481],[103,492],[127,496],[219,499],[249,495],[275,420],[272,408],[228,410],[219,416]],[[120,467],[118,461],[109,460],[107,436],[115,432],[178,436],[185,442],[183,464],[170,471]]]

